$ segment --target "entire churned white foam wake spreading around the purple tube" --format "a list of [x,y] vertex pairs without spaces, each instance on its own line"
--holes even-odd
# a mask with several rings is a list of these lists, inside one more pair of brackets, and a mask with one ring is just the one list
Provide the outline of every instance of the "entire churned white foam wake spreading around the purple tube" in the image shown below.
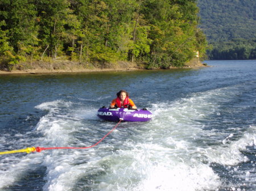
[[[31,164],[42,162],[47,168],[43,190],[74,190],[76,182],[86,176],[97,179],[92,185],[84,185],[92,190],[217,190],[222,182],[210,163],[246,162],[248,159],[241,150],[255,145],[255,126],[248,127],[234,141],[233,133],[206,130],[200,121],[212,114],[221,116],[222,103],[228,103],[236,94],[239,94],[236,87],[220,88],[170,103],[153,104],[148,108],[154,113],[152,121],[136,124],[134,129],[130,128],[133,124],[125,124],[129,129],[117,129],[112,138],[108,137],[97,148],[42,151],[26,156],[28,159],[33,156],[35,162],[16,159],[9,163],[15,168],[5,167],[7,173],[0,171],[0,188],[11,185]],[[90,146],[103,137],[98,135],[99,131],[108,133],[102,126],[113,125],[93,126],[88,120],[96,119],[95,108],[74,109],[72,103],[61,100],[42,103],[36,108],[48,110],[35,127],[43,135],[35,140],[41,147],[74,143]],[[212,146],[204,145],[204,138],[209,141],[216,135],[223,138],[216,139]],[[250,172],[244,176],[250,181],[254,179]]]

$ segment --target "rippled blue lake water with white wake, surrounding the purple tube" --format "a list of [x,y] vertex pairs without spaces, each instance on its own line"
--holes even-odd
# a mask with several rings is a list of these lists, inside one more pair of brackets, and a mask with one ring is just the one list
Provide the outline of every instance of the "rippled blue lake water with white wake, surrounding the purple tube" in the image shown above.
[[0,75],[0,151],[86,147],[125,89],[150,122],[96,147],[0,155],[0,190],[256,190],[256,61],[105,73]]

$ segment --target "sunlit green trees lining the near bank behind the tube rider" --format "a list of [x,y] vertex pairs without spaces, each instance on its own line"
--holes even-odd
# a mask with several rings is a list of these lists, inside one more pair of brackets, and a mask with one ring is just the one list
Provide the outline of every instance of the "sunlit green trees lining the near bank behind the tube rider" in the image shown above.
[[196,0],[1,0],[2,69],[55,59],[183,66],[204,55]]

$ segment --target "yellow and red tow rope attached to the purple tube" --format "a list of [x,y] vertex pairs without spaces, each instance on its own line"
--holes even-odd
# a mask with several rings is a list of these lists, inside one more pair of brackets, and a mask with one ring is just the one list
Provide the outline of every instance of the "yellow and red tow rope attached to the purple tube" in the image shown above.
[[110,133],[112,133],[112,131],[114,131],[117,126],[120,124],[120,122],[122,121],[122,118],[120,118],[120,121],[118,122],[117,125],[114,126],[114,128],[112,130],[109,131],[109,133],[107,133],[104,137],[102,137],[100,139],[100,141],[98,141],[97,143],[95,143],[92,146],[89,147],[28,147],[28,148],[24,148],[24,149],[20,149],[20,150],[13,150],[13,151],[4,151],[4,152],[0,152],[0,155],[5,155],[5,154],[14,154],[14,153],[18,153],[18,152],[41,152],[43,150],[53,150],[53,149],[86,149],[86,148],[92,148],[95,147],[96,145],[98,145],[98,143],[100,143],[101,141],[103,141],[103,139],[105,139]]

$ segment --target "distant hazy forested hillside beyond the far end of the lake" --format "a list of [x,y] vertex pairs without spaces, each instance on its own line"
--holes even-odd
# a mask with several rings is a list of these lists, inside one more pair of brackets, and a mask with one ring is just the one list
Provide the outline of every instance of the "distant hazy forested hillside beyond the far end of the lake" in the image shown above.
[[256,59],[256,1],[199,0],[210,60]]

